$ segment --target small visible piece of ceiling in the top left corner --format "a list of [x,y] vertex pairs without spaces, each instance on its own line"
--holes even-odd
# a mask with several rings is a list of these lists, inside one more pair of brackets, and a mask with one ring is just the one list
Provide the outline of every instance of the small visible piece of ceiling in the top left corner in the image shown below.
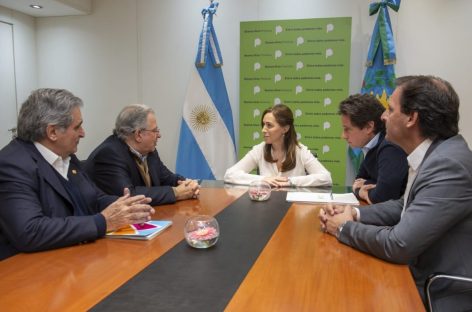
[[[31,4],[43,8],[33,9]],[[35,17],[86,15],[92,12],[92,0],[0,0],[0,6]]]

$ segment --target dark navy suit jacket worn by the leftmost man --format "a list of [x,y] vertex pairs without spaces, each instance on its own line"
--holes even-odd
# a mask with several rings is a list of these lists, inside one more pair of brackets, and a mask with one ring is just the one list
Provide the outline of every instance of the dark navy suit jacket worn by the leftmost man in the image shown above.
[[69,181],[79,188],[86,216],[74,216],[73,199],[33,143],[15,139],[0,151],[0,259],[105,235],[106,221],[99,212],[116,197],[95,187],[75,155]]

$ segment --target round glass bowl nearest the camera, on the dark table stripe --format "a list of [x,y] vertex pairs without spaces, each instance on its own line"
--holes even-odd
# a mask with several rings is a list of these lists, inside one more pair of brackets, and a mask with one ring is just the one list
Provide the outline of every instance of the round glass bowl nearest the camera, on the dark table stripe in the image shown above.
[[187,243],[199,249],[209,248],[216,244],[220,228],[215,218],[207,215],[190,217],[184,227]]

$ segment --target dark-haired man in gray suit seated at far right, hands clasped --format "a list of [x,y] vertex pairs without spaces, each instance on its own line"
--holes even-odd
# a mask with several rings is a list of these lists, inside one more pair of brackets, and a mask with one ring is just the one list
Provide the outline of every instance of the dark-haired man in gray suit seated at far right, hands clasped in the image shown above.
[[[472,152],[458,134],[459,98],[431,76],[397,80],[388,109],[386,138],[408,155],[405,194],[360,208],[327,207],[321,228],[338,240],[386,261],[408,264],[423,287],[437,272],[472,277]],[[462,299],[441,285],[449,310],[472,308],[472,289]]]

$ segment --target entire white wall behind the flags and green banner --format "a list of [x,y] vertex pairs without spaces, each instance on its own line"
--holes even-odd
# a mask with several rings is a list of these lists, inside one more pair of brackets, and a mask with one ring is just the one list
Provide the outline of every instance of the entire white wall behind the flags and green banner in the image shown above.
[[[182,105],[208,0],[95,0],[89,16],[39,18],[39,85],[65,87],[85,101],[87,137],[79,157],[109,133],[118,111],[141,102],[153,107],[163,132],[158,149],[175,168]],[[239,23],[249,20],[352,17],[350,92],[364,74],[375,17],[368,0],[224,0],[215,18],[235,125],[239,117]],[[472,143],[466,75],[470,72],[469,0],[408,0],[390,11],[397,42],[397,74],[448,79],[462,100],[460,127]],[[238,133],[238,129],[236,129]]]

